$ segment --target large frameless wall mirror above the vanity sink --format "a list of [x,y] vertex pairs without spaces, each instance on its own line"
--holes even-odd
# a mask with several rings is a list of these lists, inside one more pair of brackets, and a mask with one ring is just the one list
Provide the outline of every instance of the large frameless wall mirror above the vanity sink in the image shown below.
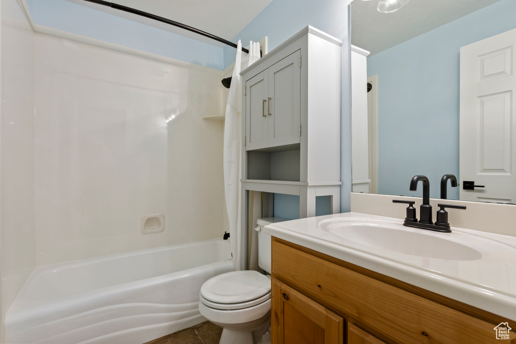
[[421,196],[409,183],[424,174],[439,198],[441,177],[454,174],[448,199],[516,203],[516,2],[413,0],[392,13],[377,3],[351,3],[351,44],[370,52],[366,67],[352,56],[351,78],[366,73],[373,87],[352,82],[353,191]]

